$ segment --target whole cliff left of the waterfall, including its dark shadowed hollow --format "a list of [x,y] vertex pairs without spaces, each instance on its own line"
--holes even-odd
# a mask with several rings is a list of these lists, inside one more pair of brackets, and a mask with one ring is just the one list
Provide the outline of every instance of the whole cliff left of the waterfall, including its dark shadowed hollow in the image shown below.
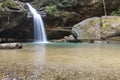
[[27,20],[24,3],[3,0],[0,4],[0,40],[7,41],[4,38],[8,38],[10,41],[13,39],[17,41],[17,39],[33,38],[33,31],[30,27],[32,24]]

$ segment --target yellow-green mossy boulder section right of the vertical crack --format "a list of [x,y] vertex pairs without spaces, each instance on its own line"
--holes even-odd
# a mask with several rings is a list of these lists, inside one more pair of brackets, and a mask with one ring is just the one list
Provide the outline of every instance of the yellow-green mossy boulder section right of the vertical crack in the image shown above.
[[120,33],[120,16],[102,17],[102,37]]

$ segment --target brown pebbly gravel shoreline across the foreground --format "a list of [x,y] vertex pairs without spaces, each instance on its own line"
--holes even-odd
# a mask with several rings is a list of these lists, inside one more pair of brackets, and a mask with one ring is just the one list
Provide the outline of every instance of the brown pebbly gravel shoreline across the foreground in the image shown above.
[[0,80],[119,80],[120,66],[111,64],[1,64]]

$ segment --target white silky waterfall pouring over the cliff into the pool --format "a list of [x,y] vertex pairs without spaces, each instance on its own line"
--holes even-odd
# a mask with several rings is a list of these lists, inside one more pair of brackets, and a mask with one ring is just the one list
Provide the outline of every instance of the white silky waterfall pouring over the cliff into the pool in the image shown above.
[[29,3],[27,3],[27,6],[34,17],[34,41],[47,43],[46,32],[41,15],[38,14],[37,10]]

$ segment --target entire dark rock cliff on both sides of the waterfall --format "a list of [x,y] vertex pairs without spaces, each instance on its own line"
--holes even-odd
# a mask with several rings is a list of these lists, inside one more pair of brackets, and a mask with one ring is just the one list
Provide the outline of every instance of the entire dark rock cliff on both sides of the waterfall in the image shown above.
[[[27,19],[24,4],[20,2],[26,0],[6,1],[0,0],[0,38],[33,39],[33,20]],[[63,38],[71,33],[72,26],[78,22],[89,17],[104,15],[102,0],[38,1],[34,6],[46,12],[43,19],[48,39]],[[120,5],[119,0],[105,0],[105,3],[108,15]]]

